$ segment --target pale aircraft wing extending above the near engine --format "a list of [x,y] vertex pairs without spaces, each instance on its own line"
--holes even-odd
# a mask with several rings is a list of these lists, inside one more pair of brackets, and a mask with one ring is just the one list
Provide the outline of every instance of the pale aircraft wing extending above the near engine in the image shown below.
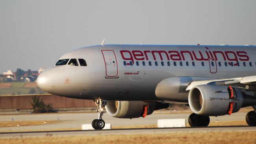
[[241,84],[255,84],[256,76],[246,76],[246,77],[235,77],[230,79],[213,79],[205,81],[193,81],[187,86],[186,91],[191,90],[194,86],[197,85],[232,85],[236,83]]

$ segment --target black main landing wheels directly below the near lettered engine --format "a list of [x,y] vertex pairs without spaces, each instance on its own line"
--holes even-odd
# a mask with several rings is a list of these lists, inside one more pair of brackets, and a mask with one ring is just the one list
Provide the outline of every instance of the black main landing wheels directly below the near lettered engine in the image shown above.
[[197,115],[192,113],[189,115],[188,123],[191,127],[194,126],[208,126],[210,123],[210,117],[204,115]]

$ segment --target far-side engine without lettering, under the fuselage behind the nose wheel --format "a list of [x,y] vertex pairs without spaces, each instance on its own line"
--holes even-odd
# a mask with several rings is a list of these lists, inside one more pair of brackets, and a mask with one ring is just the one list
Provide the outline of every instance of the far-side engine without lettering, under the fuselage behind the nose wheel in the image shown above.
[[[108,101],[106,111],[112,117],[137,118],[150,115],[154,110],[168,108],[169,104],[145,101]],[[145,110],[146,109],[146,110]]]

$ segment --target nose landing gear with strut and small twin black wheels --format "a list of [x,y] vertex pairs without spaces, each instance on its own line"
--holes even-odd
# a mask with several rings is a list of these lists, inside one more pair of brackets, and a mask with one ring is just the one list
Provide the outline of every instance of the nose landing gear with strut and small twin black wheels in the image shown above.
[[98,107],[97,112],[99,112],[99,114],[98,119],[93,120],[91,125],[95,130],[101,130],[105,126],[105,122],[102,119],[102,115],[105,113],[103,108],[105,107],[106,103],[103,103],[102,99],[96,99],[95,104]]

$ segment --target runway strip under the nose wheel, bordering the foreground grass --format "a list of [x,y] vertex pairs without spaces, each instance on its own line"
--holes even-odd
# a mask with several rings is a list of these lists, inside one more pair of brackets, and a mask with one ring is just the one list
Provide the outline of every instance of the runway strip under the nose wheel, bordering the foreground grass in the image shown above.
[[197,128],[140,128],[140,129],[116,129],[116,130],[76,130],[76,131],[40,131],[0,133],[1,138],[24,137],[56,137],[56,136],[83,136],[83,135],[134,135],[154,133],[193,133],[193,132],[224,132],[224,131],[256,131],[252,126],[212,126]]

